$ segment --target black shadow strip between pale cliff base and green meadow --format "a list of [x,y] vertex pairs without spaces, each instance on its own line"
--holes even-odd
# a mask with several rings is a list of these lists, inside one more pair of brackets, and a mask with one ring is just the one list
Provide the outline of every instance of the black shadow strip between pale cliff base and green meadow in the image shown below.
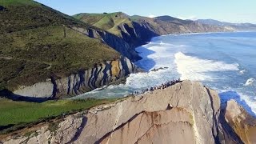
[[8,98],[13,101],[23,101],[23,102],[46,102],[48,100],[53,99],[53,98],[34,98],[30,96],[25,96],[25,95],[18,95],[6,89],[0,90],[0,97]]

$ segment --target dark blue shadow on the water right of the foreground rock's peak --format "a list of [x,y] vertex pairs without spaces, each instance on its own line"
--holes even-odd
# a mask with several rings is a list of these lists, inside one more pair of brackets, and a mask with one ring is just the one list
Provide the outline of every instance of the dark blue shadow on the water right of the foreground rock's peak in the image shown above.
[[240,95],[235,91],[226,91],[218,94],[221,98],[222,103],[226,103],[227,101],[234,99],[241,105],[249,114],[256,118],[256,114],[254,114],[253,110],[251,110],[250,106],[246,103],[245,100],[241,99]]

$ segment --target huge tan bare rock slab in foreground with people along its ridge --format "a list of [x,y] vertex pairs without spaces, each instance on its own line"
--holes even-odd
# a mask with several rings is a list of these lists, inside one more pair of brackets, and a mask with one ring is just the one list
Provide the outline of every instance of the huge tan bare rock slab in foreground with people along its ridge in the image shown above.
[[[236,110],[242,110],[233,103]],[[50,124],[39,124],[31,129],[32,133],[19,131],[2,142],[247,143],[241,134],[254,129],[239,129],[239,134],[230,118],[235,120],[241,114],[232,107],[229,110],[229,105],[221,109],[214,90],[199,82],[184,81],[71,114]],[[254,143],[255,139],[251,136],[249,141]]]

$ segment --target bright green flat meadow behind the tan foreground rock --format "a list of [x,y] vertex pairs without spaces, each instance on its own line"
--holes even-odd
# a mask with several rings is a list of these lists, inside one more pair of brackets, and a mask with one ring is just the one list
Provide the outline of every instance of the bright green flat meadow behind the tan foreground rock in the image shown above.
[[[62,114],[70,114],[93,106],[114,102],[117,99],[81,99],[58,100],[42,103],[14,102],[6,98],[0,99],[0,126],[24,126],[30,122],[53,118]],[[54,130],[54,126],[53,130]]]

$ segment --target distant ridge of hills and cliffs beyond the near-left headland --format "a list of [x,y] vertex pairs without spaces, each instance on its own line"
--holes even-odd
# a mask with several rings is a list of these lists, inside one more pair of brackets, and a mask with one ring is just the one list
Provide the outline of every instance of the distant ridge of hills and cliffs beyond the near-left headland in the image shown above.
[[[124,42],[128,43],[128,46],[132,51],[134,50],[134,47],[149,42],[151,38],[158,35],[230,31],[223,26],[211,26],[170,16],[146,18],[138,15],[129,16],[122,12],[117,12],[110,14],[82,13],[75,14],[74,18],[89,23],[102,30],[106,30],[110,34],[116,35],[118,38],[122,38]],[[103,39],[106,39],[102,34],[100,35]],[[122,54],[122,52],[120,53]],[[132,60],[136,59],[132,58]]]

